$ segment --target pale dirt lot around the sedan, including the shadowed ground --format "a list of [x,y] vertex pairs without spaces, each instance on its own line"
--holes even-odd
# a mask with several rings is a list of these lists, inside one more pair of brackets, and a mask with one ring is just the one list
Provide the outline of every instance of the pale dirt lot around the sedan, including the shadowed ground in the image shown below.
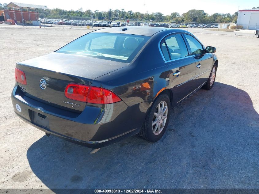
[[89,155],[21,121],[10,99],[16,62],[86,32],[0,25],[0,188],[259,188],[259,39],[194,33],[217,48],[213,89],[172,110],[159,142],[134,136]]

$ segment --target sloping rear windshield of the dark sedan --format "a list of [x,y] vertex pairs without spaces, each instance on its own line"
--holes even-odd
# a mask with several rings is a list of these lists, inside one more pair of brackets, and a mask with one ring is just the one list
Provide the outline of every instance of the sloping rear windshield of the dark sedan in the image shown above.
[[56,52],[130,63],[149,36],[119,33],[89,33]]

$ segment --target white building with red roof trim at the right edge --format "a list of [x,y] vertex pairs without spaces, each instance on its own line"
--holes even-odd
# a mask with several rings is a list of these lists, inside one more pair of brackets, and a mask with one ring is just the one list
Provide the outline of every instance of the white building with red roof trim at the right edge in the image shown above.
[[239,10],[237,24],[242,25],[244,29],[258,29],[259,9]]

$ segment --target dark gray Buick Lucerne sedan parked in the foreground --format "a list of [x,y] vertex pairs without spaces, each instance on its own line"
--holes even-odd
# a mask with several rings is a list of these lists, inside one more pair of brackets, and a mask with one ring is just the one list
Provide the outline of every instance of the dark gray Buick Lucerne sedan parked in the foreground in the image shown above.
[[172,108],[213,87],[215,51],[185,30],[96,30],[17,63],[14,111],[46,135],[90,148],[135,134],[156,142]]

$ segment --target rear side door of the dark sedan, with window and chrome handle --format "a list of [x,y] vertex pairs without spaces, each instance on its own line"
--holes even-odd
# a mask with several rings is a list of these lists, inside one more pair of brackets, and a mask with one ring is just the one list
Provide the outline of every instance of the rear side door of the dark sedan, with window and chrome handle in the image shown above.
[[195,60],[189,55],[181,33],[173,33],[163,38],[160,48],[170,74],[169,87],[173,92],[173,108],[195,89]]

